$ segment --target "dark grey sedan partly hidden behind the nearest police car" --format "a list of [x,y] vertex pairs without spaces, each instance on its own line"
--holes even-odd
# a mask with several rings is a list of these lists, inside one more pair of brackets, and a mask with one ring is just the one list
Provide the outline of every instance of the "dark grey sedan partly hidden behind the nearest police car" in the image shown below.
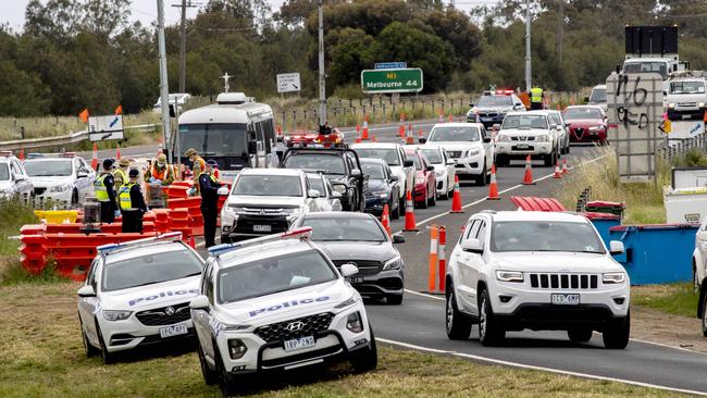
[[402,235],[388,234],[371,214],[352,212],[318,212],[300,216],[292,228],[311,226],[311,239],[334,262],[358,266],[351,285],[367,298],[385,298],[388,304],[402,302],[404,264],[394,244],[405,241]]

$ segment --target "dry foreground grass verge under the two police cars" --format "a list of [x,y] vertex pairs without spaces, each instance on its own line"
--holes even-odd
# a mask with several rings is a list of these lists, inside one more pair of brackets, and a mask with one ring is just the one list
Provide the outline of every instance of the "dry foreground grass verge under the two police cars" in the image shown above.
[[[216,397],[194,351],[150,352],[114,365],[83,352],[72,282],[1,286],[0,396]],[[471,343],[470,343],[471,344]],[[159,355],[159,356],[158,356]],[[475,364],[380,348],[379,369],[355,374],[347,363],[278,374],[256,384],[253,397],[672,397],[619,383]]]

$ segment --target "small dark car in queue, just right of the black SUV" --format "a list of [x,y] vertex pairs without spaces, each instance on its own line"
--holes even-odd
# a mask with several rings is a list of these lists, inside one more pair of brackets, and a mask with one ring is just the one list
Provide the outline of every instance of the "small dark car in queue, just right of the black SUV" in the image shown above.
[[[400,216],[398,207],[400,184],[398,176],[393,175],[388,164],[379,159],[361,159],[363,175],[369,176],[369,189],[365,191],[365,211],[382,214],[383,207],[388,206],[388,214],[395,220]],[[395,199],[394,199],[395,198]]]

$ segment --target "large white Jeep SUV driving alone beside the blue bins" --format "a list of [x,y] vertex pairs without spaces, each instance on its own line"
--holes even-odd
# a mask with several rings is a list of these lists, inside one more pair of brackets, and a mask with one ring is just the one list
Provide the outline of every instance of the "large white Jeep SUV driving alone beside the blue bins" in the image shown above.
[[483,211],[472,215],[451,252],[446,326],[451,339],[488,346],[507,331],[567,331],[575,343],[601,332],[624,348],[631,327],[629,276],[592,223],[573,213]]

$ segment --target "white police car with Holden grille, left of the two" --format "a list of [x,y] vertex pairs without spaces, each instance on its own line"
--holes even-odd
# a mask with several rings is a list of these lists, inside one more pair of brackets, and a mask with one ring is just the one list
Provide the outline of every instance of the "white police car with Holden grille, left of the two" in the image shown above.
[[181,233],[97,248],[78,318],[88,357],[110,363],[116,351],[194,338],[189,300],[199,291],[203,260]]

